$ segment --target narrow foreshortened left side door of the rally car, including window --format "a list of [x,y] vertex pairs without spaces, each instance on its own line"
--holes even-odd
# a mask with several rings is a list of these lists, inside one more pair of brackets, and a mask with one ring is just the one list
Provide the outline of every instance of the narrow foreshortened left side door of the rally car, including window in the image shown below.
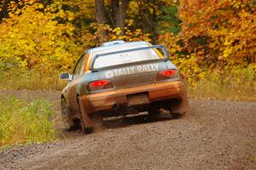
[[81,77],[84,73],[84,59],[85,54],[82,54],[73,70],[73,78],[69,86],[68,100],[69,106],[73,111],[78,111],[79,109],[77,102],[77,87],[79,84],[79,77]]

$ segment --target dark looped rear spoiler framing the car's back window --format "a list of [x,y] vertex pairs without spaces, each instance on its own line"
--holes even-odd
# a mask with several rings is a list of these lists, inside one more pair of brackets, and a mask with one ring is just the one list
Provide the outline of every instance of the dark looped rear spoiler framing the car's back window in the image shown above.
[[[110,52],[110,53],[106,53],[106,54],[96,54],[93,58],[92,58],[92,62],[90,64],[90,71],[99,71],[99,70],[105,70],[108,68],[112,68],[115,67],[117,65],[113,65],[113,66],[108,66],[108,67],[102,67],[99,69],[95,69],[93,68],[93,65],[95,64],[95,61],[98,57],[102,57],[105,55],[111,55],[111,54],[119,54],[119,53],[128,53],[131,51],[141,51],[141,50],[145,50],[145,49],[152,49],[152,48],[162,48],[165,58],[164,59],[151,59],[151,60],[143,60],[143,61],[138,61],[138,62],[134,62],[132,64],[137,64],[137,63],[143,63],[143,62],[150,62],[150,61],[156,61],[156,60],[168,60],[169,59],[169,53],[166,49],[166,47],[164,45],[153,45],[153,46],[149,46],[149,47],[145,47],[145,48],[132,48],[132,49],[125,49],[125,50],[121,50],[121,51],[115,51],[115,52]],[[131,63],[127,63],[127,64],[122,64],[122,65],[131,65]]]

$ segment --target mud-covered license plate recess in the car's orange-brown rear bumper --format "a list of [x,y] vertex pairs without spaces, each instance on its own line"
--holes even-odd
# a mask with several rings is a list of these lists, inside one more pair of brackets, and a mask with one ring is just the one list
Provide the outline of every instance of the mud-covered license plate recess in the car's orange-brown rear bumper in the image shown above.
[[128,105],[143,105],[149,103],[148,93],[127,95]]

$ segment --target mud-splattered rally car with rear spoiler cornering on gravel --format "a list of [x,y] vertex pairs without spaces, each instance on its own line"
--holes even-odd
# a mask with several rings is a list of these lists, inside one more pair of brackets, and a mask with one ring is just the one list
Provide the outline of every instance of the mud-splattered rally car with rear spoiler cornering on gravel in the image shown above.
[[105,116],[188,110],[188,99],[177,67],[163,45],[148,42],[105,42],[79,58],[72,74],[61,73],[61,115],[67,128],[91,133]]

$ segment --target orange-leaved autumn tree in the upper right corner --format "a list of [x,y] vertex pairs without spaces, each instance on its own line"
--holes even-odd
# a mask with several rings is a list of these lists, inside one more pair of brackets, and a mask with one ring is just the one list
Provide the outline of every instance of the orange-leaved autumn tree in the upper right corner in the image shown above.
[[207,65],[254,65],[256,8],[253,0],[182,1],[183,48]]

